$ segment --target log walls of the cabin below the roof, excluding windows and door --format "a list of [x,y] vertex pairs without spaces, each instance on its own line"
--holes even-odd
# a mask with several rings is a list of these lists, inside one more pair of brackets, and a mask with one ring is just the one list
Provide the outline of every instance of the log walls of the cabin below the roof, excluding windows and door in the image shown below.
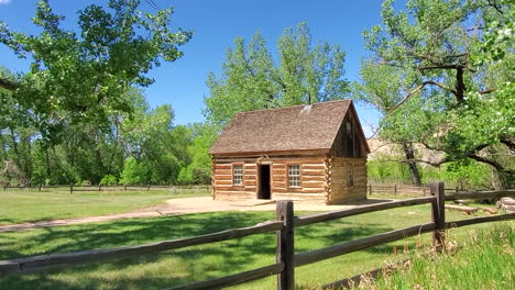
[[[212,159],[212,196],[218,200],[256,199],[259,165],[270,165],[271,199],[313,200],[327,204],[366,198],[366,159],[329,156],[231,157]],[[232,166],[243,166],[243,185],[232,182]],[[300,187],[288,185],[287,166],[300,166]],[[348,182],[352,166],[353,183]]]

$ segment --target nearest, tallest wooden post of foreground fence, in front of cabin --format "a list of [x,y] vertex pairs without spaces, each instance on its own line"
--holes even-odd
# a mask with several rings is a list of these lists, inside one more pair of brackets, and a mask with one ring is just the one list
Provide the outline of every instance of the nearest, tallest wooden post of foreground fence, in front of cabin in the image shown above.
[[275,254],[277,263],[284,263],[283,271],[277,275],[277,290],[293,290],[295,288],[293,201],[277,201],[275,212],[277,220],[284,221],[283,230],[277,232],[277,248]]

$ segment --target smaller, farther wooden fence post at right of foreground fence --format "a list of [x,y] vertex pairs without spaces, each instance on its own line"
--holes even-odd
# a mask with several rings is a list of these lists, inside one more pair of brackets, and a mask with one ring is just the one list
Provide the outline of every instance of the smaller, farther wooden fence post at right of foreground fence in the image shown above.
[[431,202],[431,221],[435,223],[435,231],[432,232],[432,245],[436,252],[445,249],[445,235],[446,235],[446,188],[443,182],[431,182],[429,185],[431,196],[436,200]]

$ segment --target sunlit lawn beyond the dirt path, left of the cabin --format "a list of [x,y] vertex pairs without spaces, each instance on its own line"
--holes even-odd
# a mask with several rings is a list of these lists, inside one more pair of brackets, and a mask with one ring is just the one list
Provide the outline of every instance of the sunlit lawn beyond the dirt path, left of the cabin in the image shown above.
[[207,196],[208,191],[0,191],[0,225],[129,212],[167,199]]

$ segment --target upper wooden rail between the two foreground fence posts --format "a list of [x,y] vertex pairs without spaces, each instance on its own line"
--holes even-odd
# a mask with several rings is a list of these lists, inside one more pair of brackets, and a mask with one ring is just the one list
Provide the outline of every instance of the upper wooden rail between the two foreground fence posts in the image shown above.
[[332,212],[325,212],[325,213],[315,213],[309,215],[299,216],[296,219],[295,226],[303,226],[314,223],[327,222],[336,219],[358,215],[368,212],[374,211],[384,211],[401,207],[410,207],[417,204],[429,203],[435,200],[435,197],[424,197],[424,198],[415,198],[415,199],[407,199],[407,200],[399,200],[399,201],[388,201],[388,202],[381,202],[375,204],[368,204],[361,205],[350,210],[341,210],[341,211],[332,211]]

